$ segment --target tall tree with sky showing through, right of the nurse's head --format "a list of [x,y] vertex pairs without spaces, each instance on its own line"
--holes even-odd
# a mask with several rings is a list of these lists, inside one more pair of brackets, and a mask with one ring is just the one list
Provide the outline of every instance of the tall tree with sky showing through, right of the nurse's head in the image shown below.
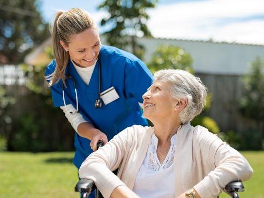
[[105,32],[109,44],[121,49],[130,44],[132,53],[141,58],[144,48],[136,43],[135,37],[151,36],[146,25],[149,19],[146,9],[155,7],[157,1],[105,0],[101,3],[98,8],[106,9],[110,14],[101,20],[101,25],[113,27]]

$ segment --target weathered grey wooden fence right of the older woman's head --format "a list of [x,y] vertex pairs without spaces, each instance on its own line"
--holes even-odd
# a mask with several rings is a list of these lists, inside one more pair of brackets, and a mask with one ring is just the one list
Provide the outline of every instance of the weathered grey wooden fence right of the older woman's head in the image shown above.
[[195,75],[202,80],[212,95],[212,105],[207,114],[216,120],[221,131],[242,132],[256,129],[256,123],[244,118],[239,112],[239,100],[244,92],[241,76],[201,73]]

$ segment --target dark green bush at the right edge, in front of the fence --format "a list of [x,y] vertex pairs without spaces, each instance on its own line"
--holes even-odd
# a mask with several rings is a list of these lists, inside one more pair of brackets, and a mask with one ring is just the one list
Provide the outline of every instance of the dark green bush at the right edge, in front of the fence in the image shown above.
[[[240,100],[243,116],[258,123],[259,132],[264,132],[264,60],[257,56],[251,63],[251,72],[243,78],[245,94]],[[262,134],[262,138],[264,135]]]

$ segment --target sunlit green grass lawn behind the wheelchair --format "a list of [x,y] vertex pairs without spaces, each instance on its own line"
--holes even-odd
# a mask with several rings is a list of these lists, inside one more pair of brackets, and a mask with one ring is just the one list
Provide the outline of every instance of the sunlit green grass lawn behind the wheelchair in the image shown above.
[[[254,169],[241,198],[264,198],[264,152],[243,152]],[[0,152],[0,198],[79,198],[72,152]],[[221,195],[220,198],[228,198]]]

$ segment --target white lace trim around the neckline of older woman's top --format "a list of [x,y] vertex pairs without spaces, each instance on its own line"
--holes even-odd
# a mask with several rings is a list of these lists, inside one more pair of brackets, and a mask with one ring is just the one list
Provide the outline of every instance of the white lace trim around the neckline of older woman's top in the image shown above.
[[[156,139],[155,139],[156,138]],[[152,171],[161,171],[169,168],[174,161],[174,153],[175,153],[175,146],[176,146],[176,134],[171,138],[171,145],[169,152],[161,165],[158,157],[157,157],[157,137],[153,134],[149,141],[149,159],[148,159],[148,166],[147,168]]]

